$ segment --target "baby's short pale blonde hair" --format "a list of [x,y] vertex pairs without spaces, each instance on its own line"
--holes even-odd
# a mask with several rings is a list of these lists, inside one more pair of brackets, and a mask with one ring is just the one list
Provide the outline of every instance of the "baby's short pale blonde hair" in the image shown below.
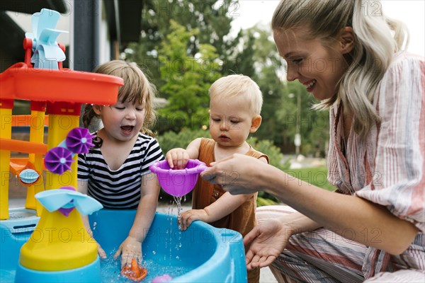
[[252,116],[260,115],[263,106],[263,95],[259,86],[249,76],[232,74],[217,79],[210,86],[210,100],[244,96]]

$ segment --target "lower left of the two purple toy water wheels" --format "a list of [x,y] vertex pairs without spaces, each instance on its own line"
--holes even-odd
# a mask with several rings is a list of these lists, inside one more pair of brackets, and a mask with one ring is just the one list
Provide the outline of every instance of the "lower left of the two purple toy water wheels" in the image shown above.
[[62,175],[65,171],[71,170],[72,152],[64,147],[54,147],[47,151],[45,156],[45,166],[48,171]]

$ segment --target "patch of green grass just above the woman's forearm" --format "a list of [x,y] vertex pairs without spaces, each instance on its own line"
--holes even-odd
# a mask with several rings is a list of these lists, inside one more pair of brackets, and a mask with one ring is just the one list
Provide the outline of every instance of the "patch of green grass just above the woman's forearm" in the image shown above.
[[288,169],[285,172],[307,183],[310,183],[317,187],[322,187],[322,189],[324,190],[333,191],[336,189],[327,181],[326,166],[314,168]]

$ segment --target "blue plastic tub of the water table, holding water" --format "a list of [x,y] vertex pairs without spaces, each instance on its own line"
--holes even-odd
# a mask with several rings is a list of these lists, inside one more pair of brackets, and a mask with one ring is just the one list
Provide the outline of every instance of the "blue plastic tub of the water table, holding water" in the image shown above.
[[[134,217],[135,210],[109,209],[102,209],[90,216],[94,237],[108,255],[108,260],[101,260],[101,282],[131,282],[120,275],[120,262],[112,258],[119,244],[128,235]],[[19,249],[30,234],[28,231],[11,231],[10,225],[4,225],[5,223],[0,221],[2,283],[15,281]],[[176,216],[157,213],[142,250],[148,270],[143,282],[150,282],[152,278],[164,274],[173,277],[170,282],[246,282],[242,236],[229,229],[216,229],[209,224],[195,221],[188,230],[180,231]],[[63,272],[57,272],[56,278],[46,277],[44,282],[69,282],[67,279],[71,278],[74,282],[78,275],[84,274],[81,270],[67,272],[67,276]],[[79,282],[87,282],[88,279],[89,277],[81,277]],[[38,275],[38,280],[43,282],[42,275]]]

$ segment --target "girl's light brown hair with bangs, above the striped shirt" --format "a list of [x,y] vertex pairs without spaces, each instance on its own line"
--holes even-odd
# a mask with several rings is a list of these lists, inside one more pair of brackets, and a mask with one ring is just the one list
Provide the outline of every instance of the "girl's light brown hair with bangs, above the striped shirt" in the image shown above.
[[[113,60],[99,65],[94,69],[94,72],[118,76],[124,80],[124,86],[121,86],[118,91],[118,100],[123,103],[145,103],[146,114],[142,132],[152,135],[149,128],[152,127],[157,120],[157,113],[154,110],[154,98],[157,93],[157,88],[149,82],[149,79],[147,79],[147,76],[137,64],[134,62]],[[82,117],[84,127],[89,127],[94,116],[96,116],[96,113],[92,105],[86,105]]]

